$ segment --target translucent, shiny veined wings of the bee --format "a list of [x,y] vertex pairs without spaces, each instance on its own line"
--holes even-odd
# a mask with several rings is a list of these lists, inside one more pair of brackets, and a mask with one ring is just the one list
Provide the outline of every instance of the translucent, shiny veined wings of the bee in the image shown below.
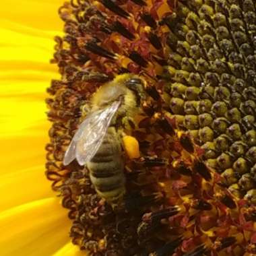
[[75,158],[80,165],[84,165],[94,157],[119,105],[120,101],[115,101],[110,106],[97,110],[86,117],[79,125],[65,152],[64,165],[69,164]]

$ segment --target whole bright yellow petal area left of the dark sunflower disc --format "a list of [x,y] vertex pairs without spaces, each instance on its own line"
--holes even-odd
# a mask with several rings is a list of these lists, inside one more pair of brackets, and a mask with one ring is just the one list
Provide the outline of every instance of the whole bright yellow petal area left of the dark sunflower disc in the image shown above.
[[44,177],[46,87],[62,0],[1,1],[1,255],[79,255]]

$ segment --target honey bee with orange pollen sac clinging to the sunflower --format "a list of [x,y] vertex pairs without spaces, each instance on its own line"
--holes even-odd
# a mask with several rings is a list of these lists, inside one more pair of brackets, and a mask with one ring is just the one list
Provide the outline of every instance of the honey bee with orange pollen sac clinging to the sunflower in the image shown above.
[[[124,123],[132,121],[140,112],[144,86],[146,82],[139,76],[123,74],[100,87],[92,96],[89,113],[65,152],[63,164],[76,159],[81,166],[86,165],[96,192],[113,207],[125,194]],[[135,138],[131,140],[127,143],[128,150],[123,146],[130,158],[131,144],[136,144]]]

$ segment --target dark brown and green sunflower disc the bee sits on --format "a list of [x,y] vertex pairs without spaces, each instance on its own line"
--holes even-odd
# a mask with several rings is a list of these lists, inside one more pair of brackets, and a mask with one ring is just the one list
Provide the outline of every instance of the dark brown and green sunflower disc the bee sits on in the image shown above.
[[[46,176],[73,244],[97,256],[255,254],[255,3],[77,0],[59,15]],[[63,158],[92,94],[123,73],[146,80],[146,117],[113,210]]]

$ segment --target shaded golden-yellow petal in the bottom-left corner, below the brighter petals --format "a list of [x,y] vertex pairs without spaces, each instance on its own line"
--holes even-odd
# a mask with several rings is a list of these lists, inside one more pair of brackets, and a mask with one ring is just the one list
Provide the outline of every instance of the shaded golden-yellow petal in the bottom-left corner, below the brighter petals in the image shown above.
[[66,214],[56,198],[32,201],[1,212],[1,256],[52,255],[69,241]]

